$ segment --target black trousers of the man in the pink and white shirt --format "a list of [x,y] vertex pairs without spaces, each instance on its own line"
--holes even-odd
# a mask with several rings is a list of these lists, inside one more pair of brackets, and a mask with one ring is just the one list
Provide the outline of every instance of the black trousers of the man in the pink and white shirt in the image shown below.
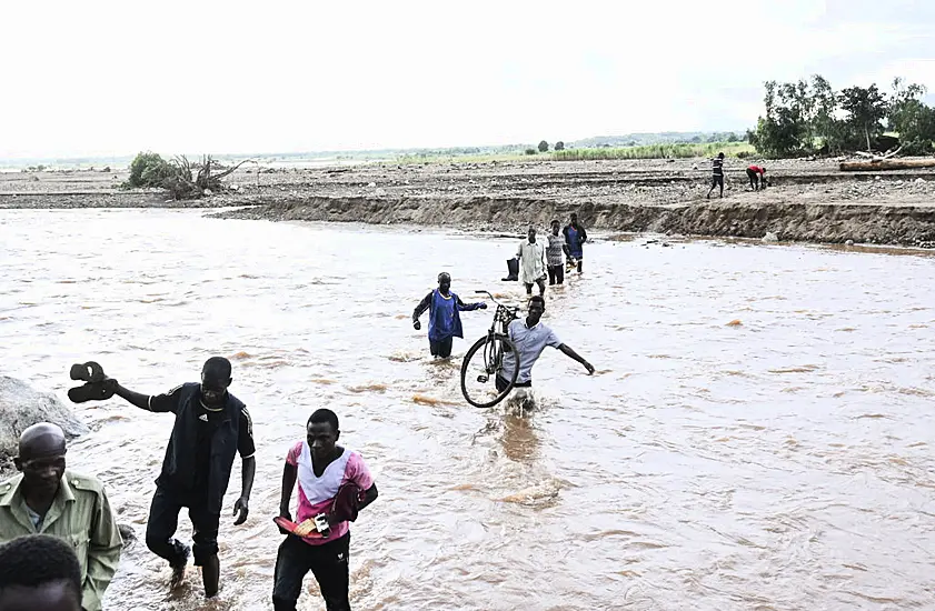
[[298,537],[288,535],[276,554],[272,608],[276,611],[296,611],[302,580],[311,571],[325,599],[325,608],[328,611],[350,611],[349,555],[349,532],[324,545],[309,545]]

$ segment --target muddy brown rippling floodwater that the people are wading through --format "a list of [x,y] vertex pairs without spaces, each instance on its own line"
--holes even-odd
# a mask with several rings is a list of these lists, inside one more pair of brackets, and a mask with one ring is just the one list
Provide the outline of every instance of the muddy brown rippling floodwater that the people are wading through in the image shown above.
[[[171,417],[77,407],[70,465],[140,537],[107,609],[271,609],[281,464],[319,407],[380,490],[352,527],[357,610],[935,608],[931,257],[591,244],[545,320],[598,373],[549,350],[519,417],[469,408],[469,342],[437,364],[409,323],[441,270],[518,302],[514,240],[33,210],[2,213],[0,248],[4,373],[64,399],[96,359],[156,393],[222,354],[253,417],[250,519],[222,518],[205,603],[195,572],[169,597],[141,540]],[[464,314],[468,340],[491,312]]]

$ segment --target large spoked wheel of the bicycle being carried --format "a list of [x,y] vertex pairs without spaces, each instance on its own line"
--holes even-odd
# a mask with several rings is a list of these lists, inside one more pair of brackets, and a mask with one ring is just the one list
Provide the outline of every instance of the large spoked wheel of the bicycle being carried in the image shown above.
[[[465,354],[461,363],[461,393],[475,408],[493,408],[513,390],[519,374],[519,359],[513,360],[511,371],[500,371],[505,351],[516,353],[516,347],[507,335],[496,333],[477,340]],[[497,390],[498,371],[509,382],[501,391]]]

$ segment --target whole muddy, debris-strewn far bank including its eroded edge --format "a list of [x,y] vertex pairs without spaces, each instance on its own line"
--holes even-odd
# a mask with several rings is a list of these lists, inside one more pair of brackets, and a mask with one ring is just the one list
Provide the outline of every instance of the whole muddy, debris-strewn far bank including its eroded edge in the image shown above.
[[605,232],[658,231],[780,240],[929,246],[935,171],[840,172],[833,160],[763,161],[772,187],[753,192],[728,159],[723,200],[705,199],[706,160],[245,166],[231,190],[175,202],[123,191],[126,171],[0,174],[0,208],[251,207],[227,218],[364,221],[519,230],[578,211]]

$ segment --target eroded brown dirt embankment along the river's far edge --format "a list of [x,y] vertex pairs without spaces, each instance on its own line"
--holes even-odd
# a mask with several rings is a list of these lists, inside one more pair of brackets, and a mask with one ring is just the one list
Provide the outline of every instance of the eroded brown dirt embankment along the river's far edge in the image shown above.
[[[548,227],[577,212],[587,227],[604,231],[734,236],[784,241],[931,246],[935,206],[753,203],[717,201],[688,206],[557,203],[518,198],[319,198],[271,202],[217,214],[273,221],[362,221],[521,230]],[[521,231],[520,231],[521,232]]]

